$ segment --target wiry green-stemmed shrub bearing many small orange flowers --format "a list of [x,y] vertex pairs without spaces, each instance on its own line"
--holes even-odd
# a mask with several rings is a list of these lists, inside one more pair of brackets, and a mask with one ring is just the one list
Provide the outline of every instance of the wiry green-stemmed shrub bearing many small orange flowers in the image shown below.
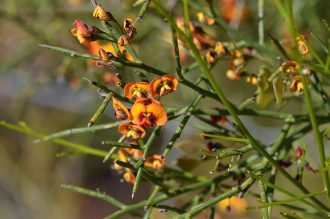
[[[219,16],[211,0],[183,0],[182,4],[176,3],[178,10],[183,11],[182,16],[176,16],[165,6],[165,1],[136,1],[135,5],[141,7],[136,20],[125,18],[120,22],[112,14],[112,9],[92,1],[94,11],[90,15],[100,25],[88,25],[77,18],[71,30],[72,36],[85,49],[84,53],[41,45],[69,56],[92,60],[95,68],[110,71],[100,81],[86,78],[103,99],[88,127],[43,136],[26,126],[5,122],[1,125],[36,136],[39,141],[53,141],[81,153],[101,157],[104,162],[112,160],[113,169],[122,181],[132,184],[132,198],[139,191],[141,181],[152,185],[149,198],[135,204],[124,204],[98,191],[64,185],[118,208],[106,218],[119,218],[126,214],[149,218],[156,214],[154,209],[171,218],[197,215],[218,218],[226,214],[238,217],[247,210],[261,209],[263,218],[271,218],[275,206],[290,209],[281,212],[286,218],[328,217],[330,178],[325,149],[329,128],[321,125],[330,122],[327,95],[329,43],[314,34],[307,38],[298,31],[291,0],[273,1],[288,26],[290,38],[286,40],[289,46],[272,35],[265,37],[263,0],[258,1],[258,42],[249,39],[237,29],[249,16],[248,7],[237,11],[235,4],[238,2],[219,1],[223,7],[222,16]],[[146,64],[139,55],[143,51],[135,48],[134,42],[139,36],[137,24],[148,12],[157,13],[159,19],[165,19],[171,30],[170,39],[165,33],[164,38],[170,41],[173,60],[162,61],[173,62],[176,72],[164,72]],[[235,40],[225,42],[212,34],[212,30],[217,28],[233,35]],[[327,24],[322,28],[329,34]],[[316,42],[317,46],[312,42]],[[267,43],[272,44],[273,48]],[[323,55],[317,52],[319,47]],[[251,97],[239,104],[228,98],[216,80],[219,72],[212,72],[221,61],[227,63],[228,68],[223,69],[222,73],[228,82],[243,82],[254,87],[255,93]],[[255,64],[257,68],[250,68],[253,62],[258,63]],[[139,69],[141,75],[148,77],[140,77],[139,81],[128,80],[127,77],[122,80],[122,75],[116,72],[124,67]],[[191,79],[194,76],[198,78],[196,81]],[[165,96],[179,98],[181,87],[197,95],[187,106],[169,107]],[[231,92],[235,93],[235,90]],[[180,98],[185,98],[185,95]],[[202,101],[210,99],[217,104],[217,108],[202,105]],[[307,112],[280,109],[296,99],[304,101]],[[109,103],[112,103],[113,118],[117,121],[100,125],[98,119],[107,108],[111,108]],[[254,137],[242,121],[242,116],[276,119],[282,127],[274,141],[264,143]],[[185,127],[193,124],[192,117],[201,121],[197,128],[203,145],[197,150],[180,139]],[[167,123],[173,120],[178,120],[179,124],[175,130],[169,130]],[[114,128],[113,132],[118,132],[121,137],[118,141],[102,141],[103,145],[111,146],[109,151],[60,139],[70,134],[110,128]],[[154,140],[160,135],[160,130],[166,128],[170,139],[165,147],[159,147],[159,154],[151,153],[151,148],[157,147]],[[315,137],[313,145],[294,146],[310,131]],[[309,163],[307,146],[318,150],[319,167]],[[168,154],[173,150],[181,150],[184,154],[174,159],[174,165],[168,161]],[[290,169],[293,164],[296,165],[296,172]],[[210,174],[196,172],[198,166]],[[318,191],[306,185],[303,176],[307,171],[322,176],[324,190]],[[278,175],[284,177],[288,185],[279,186]],[[291,187],[299,193],[292,192]],[[288,198],[275,198],[278,193]],[[182,200],[182,195],[188,198]],[[322,200],[319,196],[328,200]],[[257,199],[258,204],[250,204],[253,199]]]

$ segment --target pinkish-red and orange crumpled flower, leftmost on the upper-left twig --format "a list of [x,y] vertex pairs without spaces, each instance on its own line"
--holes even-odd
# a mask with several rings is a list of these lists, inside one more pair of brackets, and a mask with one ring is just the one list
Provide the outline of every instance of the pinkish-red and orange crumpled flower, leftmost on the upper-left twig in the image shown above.
[[77,37],[80,44],[87,46],[88,42],[94,41],[93,36],[97,33],[98,29],[94,26],[88,26],[79,19],[73,22],[76,28],[71,30],[73,36]]

